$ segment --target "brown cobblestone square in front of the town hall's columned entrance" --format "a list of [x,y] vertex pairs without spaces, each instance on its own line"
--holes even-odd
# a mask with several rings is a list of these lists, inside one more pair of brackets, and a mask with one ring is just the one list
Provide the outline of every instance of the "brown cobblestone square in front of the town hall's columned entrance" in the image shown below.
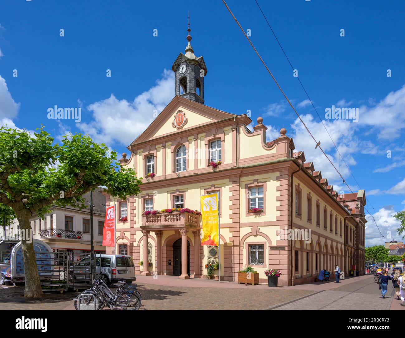
[[[311,290],[213,287],[173,287],[138,283],[142,295],[140,310],[260,310],[312,294]],[[0,308],[10,310],[74,310],[77,293],[52,294],[45,299],[21,297],[22,287],[0,289]],[[19,295],[19,296],[18,296]],[[66,299],[65,297],[69,297]]]

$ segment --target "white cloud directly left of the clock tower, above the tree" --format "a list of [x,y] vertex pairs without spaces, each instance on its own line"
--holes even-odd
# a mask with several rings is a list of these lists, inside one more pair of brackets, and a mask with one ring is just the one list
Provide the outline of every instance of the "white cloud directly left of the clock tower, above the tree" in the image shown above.
[[132,102],[111,94],[108,99],[90,104],[87,109],[92,112],[94,120],[80,123],[78,127],[95,142],[118,142],[128,146],[173,99],[173,86],[174,73],[164,70],[156,85],[136,96]]

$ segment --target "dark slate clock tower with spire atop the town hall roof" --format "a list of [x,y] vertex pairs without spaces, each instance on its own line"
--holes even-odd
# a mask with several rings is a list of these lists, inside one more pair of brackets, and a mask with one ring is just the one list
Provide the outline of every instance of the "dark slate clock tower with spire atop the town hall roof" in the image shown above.
[[172,66],[175,72],[176,95],[204,104],[204,77],[207,74],[207,67],[202,56],[194,55],[190,44],[190,15],[187,31],[188,45],[185,47],[185,53],[180,53]]

